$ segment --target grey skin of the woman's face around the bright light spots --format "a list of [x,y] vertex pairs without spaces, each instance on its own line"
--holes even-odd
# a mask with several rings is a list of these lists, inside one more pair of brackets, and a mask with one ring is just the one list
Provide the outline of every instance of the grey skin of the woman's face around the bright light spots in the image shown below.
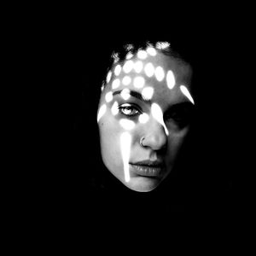
[[[132,61],[137,61],[137,57],[133,57]],[[117,177],[121,183],[124,183],[129,189],[139,192],[148,192],[155,189],[167,175],[172,172],[177,154],[189,132],[189,125],[185,125],[181,128],[174,119],[168,118],[167,115],[170,113],[172,106],[182,102],[189,102],[188,97],[183,95],[179,86],[184,84],[190,91],[192,77],[191,67],[184,61],[163,55],[160,52],[158,52],[156,56],[148,56],[146,60],[143,60],[143,63],[146,64],[149,61],[153,63],[154,67],[163,67],[165,73],[168,70],[172,70],[176,79],[176,84],[172,90],[166,86],[165,79],[159,82],[154,76],[148,78],[146,74],[142,72],[140,75],[145,79],[143,88],[148,86],[154,88],[151,102],[143,102],[133,96],[128,100],[124,100],[120,95],[113,96],[112,101],[106,102],[105,96],[109,91],[116,92],[127,88],[142,93],[143,88],[137,89],[132,83],[128,85],[121,83],[118,88],[113,89],[111,86],[113,79],[118,78],[122,80],[125,75],[129,75],[132,80],[138,75],[135,71],[131,71],[128,74],[121,72],[118,77],[115,75],[112,76],[110,82],[102,91],[99,102],[99,108],[101,108],[103,104],[107,106],[106,112],[98,121],[102,160],[109,172]],[[113,69],[117,64],[119,63],[113,65]],[[119,106],[119,113],[116,115],[113,115],[111,111],[113,102],[118,102]],[[168,135],[166,134],[164,126],[160,124],[152,114],[151,104],[153,102],[158,104],[162,110],[163,120],[169,133]],[[128,106],[129,108],[121,108],[122,106]],[[128,113],[132,115],[127,115]],[[145,124],[138,120],[139,116],[143,113],[148,114],[148,121]],[[120,150],[120,136],[127,130],[119,124],[120,119],[131,120],[135,124],[134,127],[128,131],[131,135],[131,154],[129,156],[129,162],[135,163],[142,160],[160,160],[164,163],[164,171],[161,172],[159,177],[140,176],[136,172],[133,172],[133,169],[130,167],[130,180],[129,182],[125,181],[124,163]],[[144,137],[144,147],[140,145],[140,139],[142,137]]]

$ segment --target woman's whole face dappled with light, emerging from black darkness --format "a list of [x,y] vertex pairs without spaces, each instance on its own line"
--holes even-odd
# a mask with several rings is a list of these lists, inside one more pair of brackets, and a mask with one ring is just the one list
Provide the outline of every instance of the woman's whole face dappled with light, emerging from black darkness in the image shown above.
[[102,160],[129,189],[151,191],[172,172],[189,131],[191,76],[187,63],[154,49],[108,73],[97,114]]

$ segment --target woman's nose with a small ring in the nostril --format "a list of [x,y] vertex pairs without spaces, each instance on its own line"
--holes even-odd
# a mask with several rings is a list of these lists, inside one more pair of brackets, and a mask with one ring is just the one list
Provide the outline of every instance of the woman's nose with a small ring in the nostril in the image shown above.
[[164,126],[156,119],[148,120],[145,127],[143,146],[152,148],[153,150],[160,150],[166,148],[167,135]]

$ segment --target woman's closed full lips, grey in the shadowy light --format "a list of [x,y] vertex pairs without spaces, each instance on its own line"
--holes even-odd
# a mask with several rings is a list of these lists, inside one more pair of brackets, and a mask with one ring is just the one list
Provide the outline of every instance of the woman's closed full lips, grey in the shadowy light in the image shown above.
[[137,163],[130,163],[132,170],[139,176],[144,177],[160,177],[164,170],[164,164],[160,161],[140,161]]

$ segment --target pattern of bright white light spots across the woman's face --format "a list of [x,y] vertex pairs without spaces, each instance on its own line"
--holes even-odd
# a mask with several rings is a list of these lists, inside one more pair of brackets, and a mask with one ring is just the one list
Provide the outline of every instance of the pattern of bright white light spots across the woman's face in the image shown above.
[[[150,101],[154,97],[154,88],[151,86],[144,87],[145,84],[147,84],[147,79],[155,79],[156,83],[160,84],[166,84],[166,87],[169,90],[173,90],[175,85],[177,84],[177,81],[175,79],[175,74],[171,69],[165,70],[164,67],[157,66],[154,67],[154,61],[153,63],[150,61],[146,61],[147,58],[152,58],[158,54],[157,49],[166,49],[170,46],[169,43],[166,42],[160,42],[159,44],[156,44],[156,47],[149,46],[146,50],[139,49],[137,51],[137,60],[136,56],[131,54],[129,52],[125,59],[126,61],[123,63],[123,66],[121,64],[117,64],[115,67],[113,67],[113,73],[111,71],[108,72],[106,82],[109,84],[111,82],[111,79],[113,79],[112,82],[112,90],[117,89],[121,84],[125,86],[133,86],[135,89],[141,90],[141,95],[144,99]],[[131,48],[132,49],[132,48]],[[131,58],[135,58],[135,60],[131,60]],[[144,68],[143,68],[144,67]],[[137,76],[127,75],[128,73],[137,73]],[[119,77],[122,75],[122,73],[125,73],[125,76]],[[113,78],[113,75],[115,78]],[[164,80],[166,79],[166,80]],[[163,85],[160,85],[163,86]],[[192,96],[189,93],[189,90],[185,85],[179,86],[180,91],[184,96],[186,96],[190,102],[195,104]],[[128,88],[125,88],[121,90],[120,96],[125,100],[129,100],[131,97],[131,90]],[[110,103],[113,101],[113,91],[108,91],[105,95],[105,101],[107,103]],[[128,106],[129,104],[127,104]],[[123,104],[123,112],[127,117],[130,115],[130,107],[125,107],[125,104]],[[127,109],[125,109],[127,108]],[[98,114],[97,114],[97,122],[99,122],[100,119],[102,119],[102,116],[107,111],[107,105],[102,104],[101,108],[99,108]],[[113,116],[116,116],[120,112],[119,103],[113,102],[113,105],[111,107],[111,113]],[[127,113],[127,114],[126,114]],[[140,124],[146,124],[148,120],[150,119],[150,115],[160,123],[160,125],[163,126],[166,136],[169,136],[169,131],[166,127],[165,121],[164,121],[164,114],[162,109],[160,108],[160,105],[156,102],[151,102],[151,108],[150,108],[150,114],[148,113],[140,113],[138,115],[137,121]],[[129,172],[129,160],[130,160],[130,154],[131,154],[131,131],[136,127],[136,122],[134,122],[131,119],[123,118],[119,119],[119,125],[124,131],[120,135],[120,151],[122,155],[123,165],[124,165],[124,172],[125,172],[125,182],[128,183],[130,181],[130,172]]]

